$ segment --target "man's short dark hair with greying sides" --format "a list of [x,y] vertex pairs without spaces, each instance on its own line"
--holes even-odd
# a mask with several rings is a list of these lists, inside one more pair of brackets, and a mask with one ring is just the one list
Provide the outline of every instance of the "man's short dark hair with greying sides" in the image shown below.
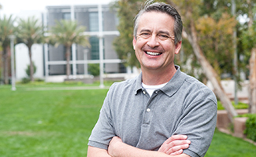
[[143,15],[143,13],[148,13],[148,12],[160,12],[160,13],[167,13],[169,16],[173,16],[174,19],[174,44],[176,45],[178,42],[182,40],[182,29],[183,29],[183,24],[182,20],[180,17],[180,14],[176,11],[176,9],[169,4],[166,4],[164,2],[154,2],[152,3],[152,0],[149,0],[145,2],[146,5],[144,6],[143,9],[139,11],[139,13],[135,16],[134,19],[134,27],[133,27],[133,35],[136,38],[138,27],[139,27],[139,18],[140,16]]

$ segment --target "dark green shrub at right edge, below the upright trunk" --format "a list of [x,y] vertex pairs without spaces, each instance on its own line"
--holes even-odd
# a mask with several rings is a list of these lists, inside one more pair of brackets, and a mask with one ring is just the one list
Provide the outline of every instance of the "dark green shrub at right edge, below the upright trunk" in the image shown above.
[[256,114],[249,115],[246,122],[246,130],[244,130],[244,133],[247,134],[247,138],[249,138],[252,141],[256,141]]

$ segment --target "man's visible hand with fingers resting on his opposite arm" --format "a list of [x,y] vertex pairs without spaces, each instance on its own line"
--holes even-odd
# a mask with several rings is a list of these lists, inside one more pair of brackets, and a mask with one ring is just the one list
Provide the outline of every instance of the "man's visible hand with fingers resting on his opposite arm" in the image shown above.
[[180,155],[184,149],[189,147],[189,144],[191,144],[191,141],[187,140],[186,135],[173,135],[161,144],[158,152],[164,152],[168,155]]

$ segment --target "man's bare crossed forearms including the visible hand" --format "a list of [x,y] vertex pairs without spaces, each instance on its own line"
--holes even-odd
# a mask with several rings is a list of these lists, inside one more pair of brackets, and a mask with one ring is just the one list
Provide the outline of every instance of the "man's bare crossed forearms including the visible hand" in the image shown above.
[[191,141],[186,139],[187,136],[184,135],[173,135],[169,137],[169,139],[161,145],[158,152],[156,152],[132,147],[128,144],[124,144],[120,137],[113,137],[109,142],[108,150],[89,146],[87,157],[188,157],[189,155],[182,154],[183,149],[188,148],[191,143]]

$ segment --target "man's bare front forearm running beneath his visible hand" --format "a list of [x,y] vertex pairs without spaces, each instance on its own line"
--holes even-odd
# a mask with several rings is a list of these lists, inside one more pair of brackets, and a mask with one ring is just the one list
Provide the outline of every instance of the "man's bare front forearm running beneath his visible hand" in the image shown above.
[[[166,142],[169,144],[169,142]],[[176,156],[176,157],[189,157],[186,154],[180,155],[167,155],[164,152],[156,152],[156,151],[147,151],[139,148],[132,147],[128,144],[124,144],[119,137],[113,137],[113,139],[109,143],[108,149],[109,155],[113,157],[169,157],[169,156]]]

